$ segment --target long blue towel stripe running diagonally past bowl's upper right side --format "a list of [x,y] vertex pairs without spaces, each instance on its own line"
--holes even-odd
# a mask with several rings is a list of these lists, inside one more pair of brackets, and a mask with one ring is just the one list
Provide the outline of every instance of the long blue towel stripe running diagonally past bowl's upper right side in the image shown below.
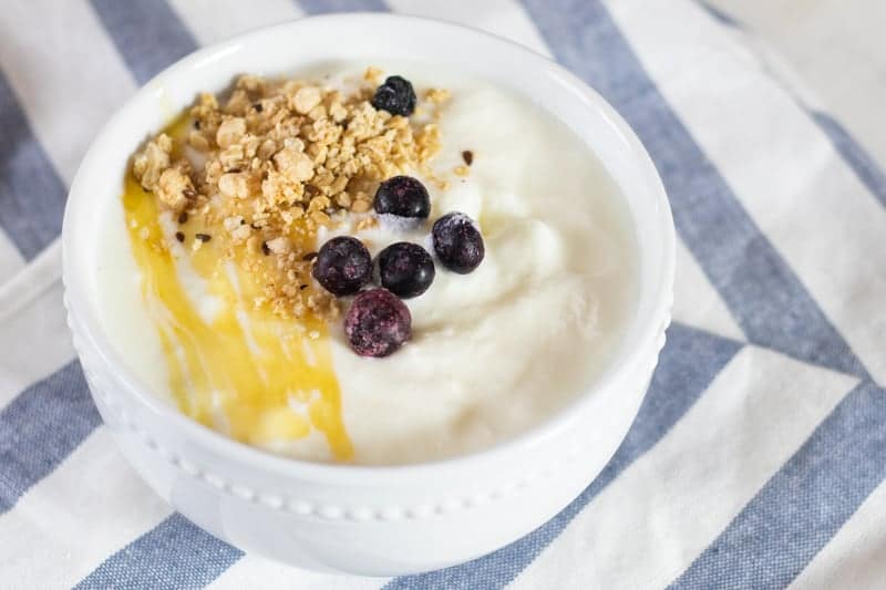
[[674,224],[755,344],[859,376],[867,373],[696,144],[599,2],[525,6],[554,54],[630,123],[655,161]]

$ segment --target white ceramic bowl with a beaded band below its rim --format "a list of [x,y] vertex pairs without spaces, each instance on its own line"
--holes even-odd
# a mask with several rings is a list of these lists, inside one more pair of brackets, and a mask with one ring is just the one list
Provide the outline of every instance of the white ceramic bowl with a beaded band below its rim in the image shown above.
[[[589,391],[553,420],[451,460],[310,464],[192,422],[146,391],[102,331],[93,273],[96,203],[120,198],[127,156],[199,91],[223,90],[245,72],[404,56],[515,89],[565,121],[602,161],[626,195],[640,244],[640,297],[621,350]],[[121,108],[83,159],[68,200],[63,249],[69,323],[93,397],[124,455],[156,493],[245,551],[303,568],[379,576],[441,568],[497,549],[545,522],[588,485],[642,400],[664,342],[674,263],[673,226],[656,169],[597,93],[519,45],[390,14],[319,17],[264,29],[161,73]]]

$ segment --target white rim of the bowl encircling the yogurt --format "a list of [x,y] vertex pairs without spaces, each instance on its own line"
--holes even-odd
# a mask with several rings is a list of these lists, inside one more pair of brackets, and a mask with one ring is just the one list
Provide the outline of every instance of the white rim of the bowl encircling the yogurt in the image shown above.
[[[330,42],[334,40],[336,42]],[[340,42],[347,40],[347,42]],[[478,59],[477,56],[482,56]],[[591,390],[602,387],[619,371],[630,368],[639,350],[655,338],[671,301],[673,230],[670,210],[655,167],[640,142],[594,91],[567,71],[529,50],[455,24],[392,14],[317,17],[262,29],[200,50],[148,82],[111,120],[84,158],[72,185],[65,211],[63,249],[66,298],[89,344],[113,368],[127,395],[155,412],[165,412],[182,428],[204,443],[227,446],[248,460],[276,464],[301,462],[271,457],[234,443],[194,423],[146,391],[107,341],[99,322],[96,282],[91,268],[101,232],[94,230],[95,206],[119,198],[127,159],[151,134],[167,124],[202,91],[220,91],[241,73],[278,75],[318,63],[404,61],[460,69],[508,86],[565,122],[597,155],[627,200],[638,240],[639,298],[626,337],[610,366]],[[562,427],[576,404],[530,431],[476,455],[518,451],[532,444],[538,431]],[[236,448],[236,451],[235,451]],[[447,462],[470,460],[467,455]],[[305,464],[301,464],[302,467]],[[403,467],[346,467],[313,465],[317,469],[415,469]]]

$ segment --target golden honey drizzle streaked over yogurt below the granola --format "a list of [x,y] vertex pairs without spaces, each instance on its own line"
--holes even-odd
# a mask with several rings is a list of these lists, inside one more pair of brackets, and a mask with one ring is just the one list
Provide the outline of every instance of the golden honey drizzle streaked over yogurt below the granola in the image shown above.
[[[169,387],[182,412],[257,445],[303,438],[315,428],[337,460],[349,460],[353,447],[342,420],[326,322],[310,314],[282,321],[253,309],[248,302],[260,286],[243,270],[237,256],[244,255],[228,262],[212,241],[189,256],[208,292],[223,302],[207,322],[182,284],[157,199],[127,177],[123,207],[142,294],[155,311]],[[246,329],[238,312],[248,320]]]

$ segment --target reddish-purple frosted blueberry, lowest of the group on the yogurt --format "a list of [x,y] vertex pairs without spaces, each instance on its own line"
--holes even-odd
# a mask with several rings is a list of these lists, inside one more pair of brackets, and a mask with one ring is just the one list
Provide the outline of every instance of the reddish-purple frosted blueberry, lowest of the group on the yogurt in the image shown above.
[[388,356],[412,337],[409,308],[385,289],[370,289],[353,299],[344,333],[361,356]]

